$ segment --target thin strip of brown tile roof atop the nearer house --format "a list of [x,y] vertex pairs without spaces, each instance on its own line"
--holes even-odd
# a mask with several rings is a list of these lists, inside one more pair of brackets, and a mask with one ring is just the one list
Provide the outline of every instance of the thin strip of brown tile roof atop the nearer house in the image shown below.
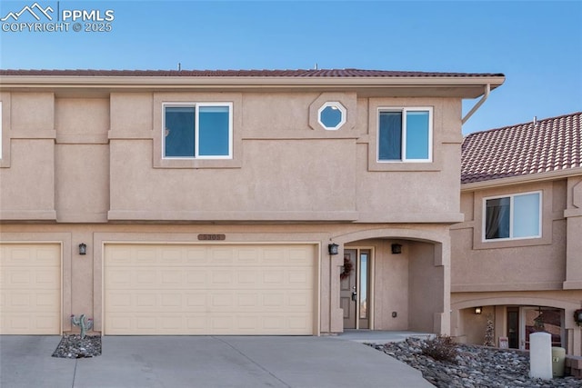
[[190,77],[485,77],[502,74],[398,72],[361,69],[314,70],[2,70],[0,75],[190,76]]

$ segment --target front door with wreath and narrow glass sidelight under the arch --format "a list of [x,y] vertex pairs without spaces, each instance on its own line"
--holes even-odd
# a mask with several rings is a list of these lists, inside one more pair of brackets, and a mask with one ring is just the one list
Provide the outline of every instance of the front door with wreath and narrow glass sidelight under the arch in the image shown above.
[[340,275],[340,305],[344,310],[344,329],[368,329],[370,295],[370,250],[344,250]]

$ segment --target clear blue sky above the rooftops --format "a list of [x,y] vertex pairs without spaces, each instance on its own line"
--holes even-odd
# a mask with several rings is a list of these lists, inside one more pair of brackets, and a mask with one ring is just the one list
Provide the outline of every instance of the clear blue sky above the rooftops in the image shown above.
[[[9,16],[0,22],[3,69],[176,69],[179,63],[182,69],[503,73],[506,83],[464,134],[582,111],[579,0],[1,0],[0,18],[35,3],[53,9],[46,11],[49,21],[35,8],[40,22],[69,23],[68,31],[29,32],[20,24],[37,22],[30,13]],[[65,14],[75,10],[95,11],[93,20]],[[476,103],[465,101],[464,114]]]

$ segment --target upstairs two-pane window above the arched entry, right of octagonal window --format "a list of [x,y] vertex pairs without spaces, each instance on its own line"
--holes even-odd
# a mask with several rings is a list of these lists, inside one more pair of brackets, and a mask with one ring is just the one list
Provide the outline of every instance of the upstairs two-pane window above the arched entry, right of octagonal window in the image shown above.
[[378,162],[432,161],[432,108],[381,108]]

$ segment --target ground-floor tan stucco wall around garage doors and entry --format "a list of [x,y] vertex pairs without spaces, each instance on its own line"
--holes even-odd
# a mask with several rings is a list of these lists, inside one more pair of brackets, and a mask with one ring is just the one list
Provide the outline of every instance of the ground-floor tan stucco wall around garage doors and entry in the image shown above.
[[[63,330],[71,330],[69,316],[85,313],[95,319],[95,330],[102,328],[103,246],[107,243],[135,244],[208,244],[198,234],[226,234],[224,242],[235,243],[308,243],[320,247],[318,281],[318,322],[321,333],[342,331],[339,307],[339,268],[341,254],[327,254],[330,241],[342,238],[348,246],[364,247],[373,252],[375,265],[374,312],[376,330],[419,330],[432,332],[440,321],[435,313],[444,313],[447,295],[443,267],[435,267],[438,242],[447,240],[447,228],[440,225],[386,224],[3,224],[2,242],[51,242],[63,246]],[[370,236],[384,236],[370,238]],[[389,238],[390,235],[398,238]],[[415,240],[432,238],[433,243]],[[391,254],[390,244],[403,245],[402,254]],[[87,245],[87,254],[78,252],[78,244]],[[413,264],[414,263],[414,264]],[[414,270],[410,267],[414,266]],[[410,284],[416,284],[411,291]],[[339,310],[341,312],[341,310]],[[392,312],[396,311],[396,318]],[[437,328],[440,333],[441,328]],[[443,328],[443,330],[445,330]]]

